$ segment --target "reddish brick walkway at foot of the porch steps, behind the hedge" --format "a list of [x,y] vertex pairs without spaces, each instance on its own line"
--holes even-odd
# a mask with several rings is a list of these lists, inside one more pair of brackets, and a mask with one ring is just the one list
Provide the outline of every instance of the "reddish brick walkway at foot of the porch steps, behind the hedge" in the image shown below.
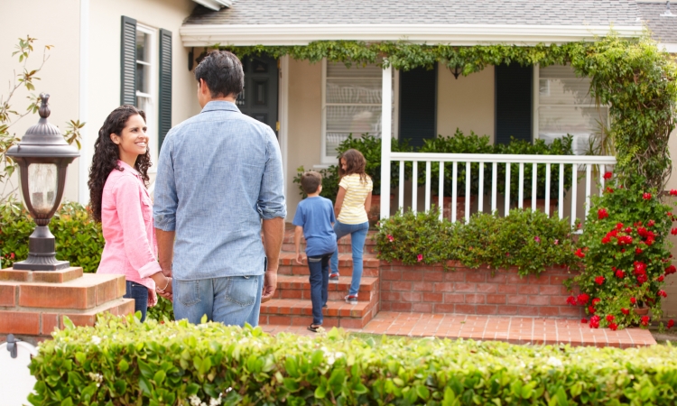
[[[311,336],[306,326],[262,325],[264,331]],[[472,338],[499,340],[512,344],[570,344],[572,346],[651,346],[656,344],[649,330],[589,328],[570,318],[524,318],[467,316],[455,314],[397,313],[382,311],[364,328],[347,331],[408,337]]]

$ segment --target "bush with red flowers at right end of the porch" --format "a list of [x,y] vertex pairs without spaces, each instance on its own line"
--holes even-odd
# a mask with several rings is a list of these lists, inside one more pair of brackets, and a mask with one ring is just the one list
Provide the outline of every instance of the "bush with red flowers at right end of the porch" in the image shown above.
[[588,300],[577,301],[600,318],[600,327],[637,325],[640,317],[627,310],[643,305],[659,319],[663,299],[659,291],[665,275],[674,269],[668,240],[671,206],[661,203],[654,189],[641,188],[638,181],[634,184],[608,187],[601,197],[593,196],[596,209],[590,210],[580,237],[580,255],[584,255],[580,261],[585,267],[574,281]]

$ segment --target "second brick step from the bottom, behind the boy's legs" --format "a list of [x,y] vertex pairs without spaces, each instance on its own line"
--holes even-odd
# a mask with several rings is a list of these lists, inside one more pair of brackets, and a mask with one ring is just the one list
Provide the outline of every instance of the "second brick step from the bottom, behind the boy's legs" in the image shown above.
[[[338,283],[329,281],[329,300],[344,300],[350,288],[351,278],[341,276]],[[378,294],[378,278],[363,277],[359,284],[357,300],[376,300]],[[308,276],[279,275],[275,299],[302,299],[311,300],[311,282]]]

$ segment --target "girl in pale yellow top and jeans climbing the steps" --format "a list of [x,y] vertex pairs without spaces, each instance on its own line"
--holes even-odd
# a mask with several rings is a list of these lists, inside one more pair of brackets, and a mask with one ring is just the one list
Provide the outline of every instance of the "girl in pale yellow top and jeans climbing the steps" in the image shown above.
[[[345,235],[350,235],[353,251],[353,277],[350,282],[350,291],[346,301],[357,304],[359,282],[362,280],[362,253],[365,248],[366,232],[369,231],[369,221],[366,213],[371,208],[371,178],[365,173],[366,161],[364,155],[357,150],[348,150],[339,157],[338,167],[338,194],[334,212],[336,224],[334,233],[337,241]],[[331,274],[329,281],[338,282],[338,250],[331,256]]]

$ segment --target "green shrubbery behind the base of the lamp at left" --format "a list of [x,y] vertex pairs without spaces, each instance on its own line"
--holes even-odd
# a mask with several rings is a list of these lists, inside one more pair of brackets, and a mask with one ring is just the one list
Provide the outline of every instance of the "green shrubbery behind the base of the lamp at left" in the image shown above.
[[[28,237],[35,223],[21,202],[7,198],[0,204],[0,248],[2,267],[28,257]],[[50,230],[56,241],[57,259],[81,266],[84,272],[97,272],[105,241],[101,225],[79,203],[61,205],[51,218]]]

